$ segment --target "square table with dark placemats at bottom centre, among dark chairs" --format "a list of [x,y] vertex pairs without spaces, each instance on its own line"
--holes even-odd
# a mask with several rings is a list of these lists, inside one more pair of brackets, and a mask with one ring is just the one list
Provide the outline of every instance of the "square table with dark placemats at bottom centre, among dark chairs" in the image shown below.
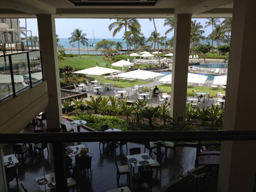
[[[147,157],[147,159],[143,159],[143,157]],[[136,164],[133,163],[132,161],[129,161],[132,167],[141,167],[141,166],[147,166],[147,165],[156,163],[153,159],[151,159],[151,157],[147,153],[130,155],[130,156],[126,156],[126,158],[128,161],[129,159],[135,159],[138,161]],[[142,164],[142,162],[145,162],[145,163]]]

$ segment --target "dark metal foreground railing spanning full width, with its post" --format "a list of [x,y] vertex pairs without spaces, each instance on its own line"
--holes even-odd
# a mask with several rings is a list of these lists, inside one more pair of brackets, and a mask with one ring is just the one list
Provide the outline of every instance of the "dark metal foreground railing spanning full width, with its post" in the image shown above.
[[81,132],[81,133],[2,133],[0,144],[46,142],[53,144],[54,172],[56,191],[67,191],[67,173],[65,170],[66,142],[97,141],[252,141],[256,140],[253,131],[142,131],[142,132]]

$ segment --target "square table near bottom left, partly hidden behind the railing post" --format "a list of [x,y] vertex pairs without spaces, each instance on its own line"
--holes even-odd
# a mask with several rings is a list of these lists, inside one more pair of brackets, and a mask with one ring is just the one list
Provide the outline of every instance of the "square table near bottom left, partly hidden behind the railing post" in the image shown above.
[[[39,179],[46,179],[47,183],[39,185],[38,184]],[[38,184],[38,187],[40,188],[41,191],[47,191],[47,190],[56,188],[56,182],[55,182],[56,179],[55,179],[54,173],[49,173],[47,175],[38,176],[37,178],[35,178],[35,181]],[[71,187],[71,186],[77,184],[77,182],[73,178],[68,178],[67,181],[68,181],[68,187]]]

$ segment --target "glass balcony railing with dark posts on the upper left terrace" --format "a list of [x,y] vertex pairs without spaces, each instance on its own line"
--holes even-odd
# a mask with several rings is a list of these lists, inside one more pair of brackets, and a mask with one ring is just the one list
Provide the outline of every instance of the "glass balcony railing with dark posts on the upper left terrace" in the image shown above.
[[0,101],[43,80],[39,50],[0,56]]

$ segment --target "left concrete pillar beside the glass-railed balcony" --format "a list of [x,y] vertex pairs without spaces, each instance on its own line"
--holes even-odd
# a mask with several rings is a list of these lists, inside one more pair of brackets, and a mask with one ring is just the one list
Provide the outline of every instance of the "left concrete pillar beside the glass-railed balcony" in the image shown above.
[[45,109],[47,129],[60,129],[62,105],[55,21],[51,15],[39,14],[37,15],[37,22],[44,78],[48,87],[48,105]]

